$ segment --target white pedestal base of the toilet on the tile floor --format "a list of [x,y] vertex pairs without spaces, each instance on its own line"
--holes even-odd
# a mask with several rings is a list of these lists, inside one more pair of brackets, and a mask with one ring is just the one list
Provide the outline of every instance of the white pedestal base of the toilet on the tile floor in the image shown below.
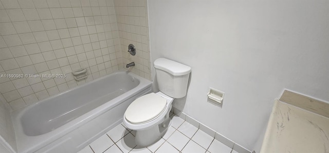
[[142,147],[147,147],[161,139],[166,134],[168,127],[171,125],[171,119],[167,118],[159,125],[146,130],[137,130],[135,143]]

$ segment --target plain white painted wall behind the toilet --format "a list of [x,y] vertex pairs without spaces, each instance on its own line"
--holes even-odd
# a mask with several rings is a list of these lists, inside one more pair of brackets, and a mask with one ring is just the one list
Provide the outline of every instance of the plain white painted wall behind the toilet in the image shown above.
[[[151,67],[159,57],[192,67],[175,106],[247,149],[284,88],[329,100],[329,1],[148,4]],[[207,102],[209,86],[226,93],[222,108]]]

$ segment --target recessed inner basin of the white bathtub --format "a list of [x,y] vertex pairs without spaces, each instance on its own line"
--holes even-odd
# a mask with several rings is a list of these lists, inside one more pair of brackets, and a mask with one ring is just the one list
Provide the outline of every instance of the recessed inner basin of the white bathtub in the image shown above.
[[95,80],[86,86],[82,85],[76,90],[67,91],[30,107],[21,118],[24,134],[38,136],[48,133],[139,84],[138,79],[125,73],[111,77],[111,80],[115,81]]

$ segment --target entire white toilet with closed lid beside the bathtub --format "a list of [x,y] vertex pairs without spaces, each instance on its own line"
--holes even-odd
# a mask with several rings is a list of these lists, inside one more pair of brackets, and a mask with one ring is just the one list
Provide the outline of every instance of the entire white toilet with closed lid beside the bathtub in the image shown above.
[[134,100],[127,108],[123,124],[136,130],[135,142],[149,146],[166,133],[171,124],[169,112],[174,98],[186,96],[191,67],[166,59],[154,61],[160,92],[150,93]]

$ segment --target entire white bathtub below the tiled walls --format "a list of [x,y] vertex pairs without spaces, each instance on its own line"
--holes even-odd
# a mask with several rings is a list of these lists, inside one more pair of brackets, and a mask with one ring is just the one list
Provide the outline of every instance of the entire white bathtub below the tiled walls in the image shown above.
[[116,72],[12,112],[18,152],[77,152],[122,122],[152,82]]

